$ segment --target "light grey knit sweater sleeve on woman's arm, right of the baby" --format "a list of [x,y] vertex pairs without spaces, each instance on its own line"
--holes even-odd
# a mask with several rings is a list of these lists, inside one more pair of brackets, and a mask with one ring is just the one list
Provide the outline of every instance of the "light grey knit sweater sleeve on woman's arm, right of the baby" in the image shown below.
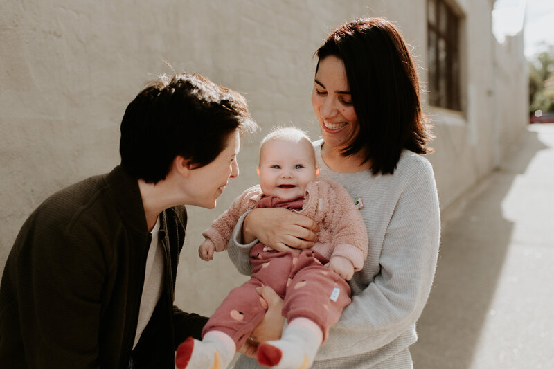
[[[440,210],[431,164],[422,160],[413,166],[390,201],[390,220],[384,219],[386,233],[382,245],[376,245],[380,271],[373,280],[359,281],[367,287],[352,291],[352,303],[331,327],[316,360],[377,350],[415,326],[436,269]],[[366,276],[360,272],[355,278]]]

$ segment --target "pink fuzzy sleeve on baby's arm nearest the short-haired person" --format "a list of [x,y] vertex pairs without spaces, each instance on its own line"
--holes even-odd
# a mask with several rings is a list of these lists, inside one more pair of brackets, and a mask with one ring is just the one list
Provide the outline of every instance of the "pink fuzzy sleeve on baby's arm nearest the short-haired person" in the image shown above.
[[233,228],[238,219],[244,212],[253,208],[262,195],[260,185],[247,188],[242,195],[237,197],[229,209],[225,210],[220,217],[217,217],[211,227],[206,229],[202,235],[210,239],[215,245],[215,251],[224,251],[227,249],[227,243],[233,233]]

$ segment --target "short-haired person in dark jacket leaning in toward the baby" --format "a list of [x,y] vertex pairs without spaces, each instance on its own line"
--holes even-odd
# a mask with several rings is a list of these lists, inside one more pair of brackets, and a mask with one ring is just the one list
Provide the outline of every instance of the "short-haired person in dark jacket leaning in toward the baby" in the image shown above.
[[121,165],[21,227],[0,285],[0,367],[175,368],[207,321],[173,305],[184,205],[215,206],[238,176],[240,132],[256,127],[240,94],[202,75],[143,89],[121,123]]

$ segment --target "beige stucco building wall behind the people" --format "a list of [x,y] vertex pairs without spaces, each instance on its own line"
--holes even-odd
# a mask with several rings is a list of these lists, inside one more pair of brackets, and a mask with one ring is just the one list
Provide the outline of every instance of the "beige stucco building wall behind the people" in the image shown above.
[[[499,132],[491,125],[497,97],[493,40],[486,37],[490,6],[479,0],[459,6],[466,17],[467,109],[462,115],[430,110],[437,153],[429,159],[443,204],[494,167],[492,143]],[[118,164],[120,119],[145,82],[172,69],[202,73],[244,93],[262,126],[243,143],[240,177],[217,208],[189,208],[177,304],[211,314],[244,277],[225,253],[213,262],[199,260],[201,232],[256,183],[257,142],[272,125],[294,123],[318,136],[310,105],[312,53],[330,28],[359,15],[397,21],[426,78],[424,0],[3,1],[0,265],[21,224],[48,195]],[[518,129],[516,122],[505,136],[511,139]]]

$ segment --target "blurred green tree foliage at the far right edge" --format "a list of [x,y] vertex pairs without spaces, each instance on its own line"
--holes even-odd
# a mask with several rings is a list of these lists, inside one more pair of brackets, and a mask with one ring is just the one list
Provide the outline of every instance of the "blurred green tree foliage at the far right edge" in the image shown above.
[[529,61],[529,110],[554,111],[554,46]]

